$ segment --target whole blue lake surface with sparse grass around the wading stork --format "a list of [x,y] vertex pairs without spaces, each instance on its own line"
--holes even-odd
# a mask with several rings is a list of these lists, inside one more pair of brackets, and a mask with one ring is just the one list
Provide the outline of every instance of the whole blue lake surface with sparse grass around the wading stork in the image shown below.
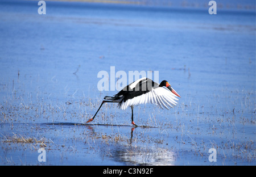
[[[39,15],[37,3],[0,1],[1,165],[255,165],[255,2],[217,15],[80,2]],[[111,66],[159,71],[179,103],[135,107],[137,128],[105,104],[85,125],[118,92],[97,87]]]

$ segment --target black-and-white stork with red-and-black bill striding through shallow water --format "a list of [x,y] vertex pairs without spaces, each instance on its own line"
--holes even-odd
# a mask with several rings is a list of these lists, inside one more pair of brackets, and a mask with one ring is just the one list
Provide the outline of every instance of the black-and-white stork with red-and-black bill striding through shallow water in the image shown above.
[[133,120],[134,106],[151,103],[158,105],[162,109],[169,109],[169,107],[176,106],[176,101],[179,100],[177,97],[180,97],[180,95],[177,94],[168,81],[163,80],[159,84],[150,78],[143,77],[124,87],[118,94],[105,96],[95,115],[86,121],[86,124],[93,121],[104,103],[118,103],[118,107],[121,109],[131,107],[131,124],[137,127],[138,125]]

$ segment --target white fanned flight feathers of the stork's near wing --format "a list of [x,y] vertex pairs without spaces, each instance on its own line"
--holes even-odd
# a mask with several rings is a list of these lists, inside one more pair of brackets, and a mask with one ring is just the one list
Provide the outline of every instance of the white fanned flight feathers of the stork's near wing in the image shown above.
[[128,99],[120,106],[121,109],[126,109],[129,106],[135,106],[138,104],[152,103],[158,105],[160,108],[169,109],[169,107],[176,106],[178,100],[177,96],[165,87],[152,88],[151,91],[140,96],[136,96],[133,99]]

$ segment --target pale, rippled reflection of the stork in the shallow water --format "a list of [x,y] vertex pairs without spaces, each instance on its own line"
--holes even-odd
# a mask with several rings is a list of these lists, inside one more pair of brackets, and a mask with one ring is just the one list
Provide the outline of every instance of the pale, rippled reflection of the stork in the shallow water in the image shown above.
[[[89,128],[89,126],[88,126]],[[95,133],[95,130],[90,127]],[[130,138],[126,141],[117,141],[108,143],[108,148],[102,148],[100,154],[102,158],[109,157],[113,161],[124,163],[125,165],[174,165],[176,154],[170,151],[168,147],[162,148],[157,145],[149,145],[147,142],[138,144],[138,137],[134,138],[134,132],[139,127],[131,128]],[[106,141],[101,139],[102,143]],[[107,145],[106,145],[107,146]]]

